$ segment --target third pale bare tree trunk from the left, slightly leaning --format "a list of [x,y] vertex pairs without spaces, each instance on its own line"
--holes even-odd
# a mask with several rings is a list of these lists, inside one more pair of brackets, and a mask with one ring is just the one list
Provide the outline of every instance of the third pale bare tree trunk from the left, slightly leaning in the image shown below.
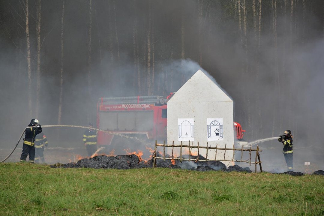
[[64,5],[65,0],[63,0],[63,6],[62,6],[62,16],[61,16],[61,69],[60,69],[60,98],[59,98],[59,113],[58,113],[58,119],[57,124],[61,124],[62,119],[62,105],[63,105],[63,66],[64,66]]

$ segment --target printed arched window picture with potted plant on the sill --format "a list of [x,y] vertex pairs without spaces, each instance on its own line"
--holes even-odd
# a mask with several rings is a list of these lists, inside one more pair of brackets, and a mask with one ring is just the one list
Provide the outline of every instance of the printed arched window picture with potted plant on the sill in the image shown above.
[[223,118],[208,118],[207,141],[222,141],[224,140],[223,134]]

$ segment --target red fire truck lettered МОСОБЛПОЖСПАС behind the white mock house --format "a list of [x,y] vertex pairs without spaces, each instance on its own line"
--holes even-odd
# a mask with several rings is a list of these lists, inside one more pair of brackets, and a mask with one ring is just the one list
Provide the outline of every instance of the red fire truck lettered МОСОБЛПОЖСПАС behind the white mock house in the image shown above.
[[[167,139],[168,97],[101,97],[97,103],[98,144],[110,145],[115,134],[126,136],[146,135],[149,140]],[[242,140],[245,130],[234,122],[236,139]]]

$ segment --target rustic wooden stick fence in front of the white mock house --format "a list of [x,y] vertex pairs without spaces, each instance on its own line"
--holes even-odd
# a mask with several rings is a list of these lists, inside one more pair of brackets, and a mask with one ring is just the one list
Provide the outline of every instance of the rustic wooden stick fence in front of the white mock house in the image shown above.
[[[157,146],[163,147],[163,157],[157,157],[156,156],[156,148],[157,148]],[[165,148],[166,147],[172,147],[172,155],[171,155],[171,157],[166,157],[166,155],[165,155]],[[174,148],[180,148],[180,157],[179,158],[174,157]],[[182,148],[189,148],[189,158],[182,158]],[[192,148],[198,149],[197,157],[191,155]],[[206,149],[206,159],[204,159],[204,160],[199,159],[199,149]],[[215,151],[215,159],[214,160],[208,159],[208,150],[211,150],[211,149],[214,149],[214,151]],[[262,172],[262,166],[261,166],[261,160],[260,160],[260,154],[259,154],[259,152],[262,152],[262,150],[259,149],[259,145],[257,145],[256,149],[252,149],[252,145],[250,145],[250,148],[244,148],[243,145],[242,145],[242,148],[235,148],[234,145],[233,145],[233,148],[227,148],[226,144],[225,144],[225,148],[220,148],[220,147],[218,147],[218,144],[216,144],[216,147],[208,146],[208,142],[207,142],[206,146],[199,146],[199,142],[197,142],[197,146],[193,146],[193,142],[191,143],[191,145],[190,145],[190,142],[189,142],[189,145],[183,145],[182,141],[180,142],[180,145],[175,145],[174,142],[172,142],[172,145],[168,145],[168,144],[165,144],[165,141],[163,142],[163,144],[157,143],[157,141],[155,141],[155,147],[154,147],[154,153],[153,153],[153,157],[154,157],[154,159],[153,159],[153,167],[156,166],[156,159],[180,160],[180,163],[182,161],[194,161],[195,163],[197,161],[216,161],[217,150],[224,150],[224,159],[222,159],[221,161],[245,162],[245,163],[249,163],[249,165],[254,164],[255,172],[257,172],[257,165],[259,164],[260,171]],[[225,158],[226,150],[227,151],[233,151],[233,157],[232,157],[231,160],[226,160],[226,158]],[[241,160],[235,160],[234,159],[234,155],[238,151],[241,152]],[[243,160],[243,152],[248,152],[249,153],[249,159]],[[254,162],[251,161],[252,152],[256,152]],[[191,156],[192,156],[192,158],[191,158]]]

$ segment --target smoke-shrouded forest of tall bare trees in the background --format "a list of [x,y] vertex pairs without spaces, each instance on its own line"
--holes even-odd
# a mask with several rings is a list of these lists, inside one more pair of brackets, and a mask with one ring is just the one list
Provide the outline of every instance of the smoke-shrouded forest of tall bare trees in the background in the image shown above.
[[99,97],[167,96],[202,68],[245,139],[321,148],[323,36],[322,0],[2,0],[0,135],[86,126]]

